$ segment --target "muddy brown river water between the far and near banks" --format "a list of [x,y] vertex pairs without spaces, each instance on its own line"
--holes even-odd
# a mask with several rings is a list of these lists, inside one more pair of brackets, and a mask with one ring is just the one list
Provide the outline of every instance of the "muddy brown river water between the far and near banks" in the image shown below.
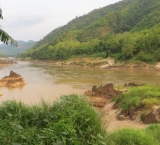
[[53,101],[63,94],[83,94],[93,85],[114,83],[159,84],[160,72],[145,70],[108,70],[98,68],[68,67],[44,65],[39,63],[18,62],[15,65],[1,67],[0,78],[13,70],[22,75],[27,84],[21,88],[0,88],[3,96],[0,102],[15,99],[25,103],[37,103],[42,98]]

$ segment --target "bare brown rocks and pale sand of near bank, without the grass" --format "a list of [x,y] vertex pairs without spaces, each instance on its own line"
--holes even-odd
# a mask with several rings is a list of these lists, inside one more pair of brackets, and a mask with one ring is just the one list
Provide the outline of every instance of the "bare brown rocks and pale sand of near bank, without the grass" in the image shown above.
[[[134,83],[126,85],[139,86],[139,84]],[[159,117],[160,106],[157,106],[154,111],[152,109],[148,114],[148,117],[146,115],[146,124],[144,121],[140,120],[141,110],[136,110],[135,112],[135,110],[130,109],[127,114],[125,112],[123,114],[123,111],[119,109],[119,105],[114,105],[113,102],[111,102],[111,99],[125,91],[117,91],[113,84],[106,84],[104,86],[101,85],[100,87],[95,85],[91,90],[85,92],[85,95],[89,98],[91,104],[101,114],[102,124],[108,132],[121,128],[145,128],[148,124],[154,123],[157,116]]]

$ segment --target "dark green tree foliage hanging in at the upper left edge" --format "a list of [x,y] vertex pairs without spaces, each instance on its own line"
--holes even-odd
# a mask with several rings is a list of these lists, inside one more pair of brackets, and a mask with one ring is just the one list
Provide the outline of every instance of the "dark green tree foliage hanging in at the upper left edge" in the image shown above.
[[[0,19],[3,19],[1,8],[0,8]],[[2,29],[0,29],[0,41],[2,41],[3,43],[6,43],[6,44],[8,44],[8,42],[10,42],[11,45],[13,45],[13,46],[18,45],[18,43]]]

